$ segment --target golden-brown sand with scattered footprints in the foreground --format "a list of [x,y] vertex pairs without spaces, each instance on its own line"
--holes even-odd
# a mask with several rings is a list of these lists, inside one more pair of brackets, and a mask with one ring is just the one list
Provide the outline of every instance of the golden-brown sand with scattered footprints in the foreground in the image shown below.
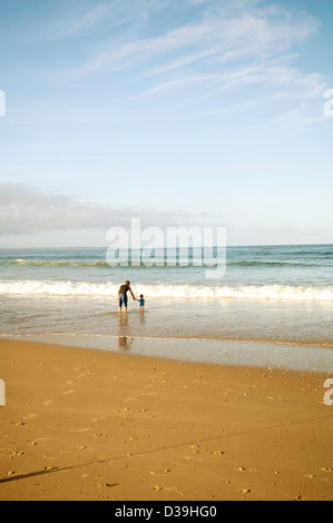
[[0,341],[0,500],[332,500],[329,375]]

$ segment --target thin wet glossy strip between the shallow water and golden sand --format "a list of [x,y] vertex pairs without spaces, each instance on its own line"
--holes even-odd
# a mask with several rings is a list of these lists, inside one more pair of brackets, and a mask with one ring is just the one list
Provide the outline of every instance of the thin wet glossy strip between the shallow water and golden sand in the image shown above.
[[65,345],[180,362],[333,373],[330,345],[247,339],[143,337],[133,336],[126,330],[118,335],[40,334],[1,336],[0,339]]

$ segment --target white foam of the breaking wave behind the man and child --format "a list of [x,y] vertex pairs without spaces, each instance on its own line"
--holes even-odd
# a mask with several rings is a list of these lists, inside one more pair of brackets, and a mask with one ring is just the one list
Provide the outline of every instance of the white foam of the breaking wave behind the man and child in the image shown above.
[[[333,302],[331,287],[287,285],[140,285],[140,294],[159,298],[254,298]],[[1,295],[117,296],[119,285],[91,282],[0,280]]]

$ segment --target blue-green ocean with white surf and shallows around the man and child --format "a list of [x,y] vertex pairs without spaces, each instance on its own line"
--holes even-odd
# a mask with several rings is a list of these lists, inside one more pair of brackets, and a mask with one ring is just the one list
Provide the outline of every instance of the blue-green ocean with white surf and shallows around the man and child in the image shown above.
[[[202,260],[200,249],[130,251],[117,266],[106,248],[0,250],[0,336],[333,371],[333,245],[227,247],[213,277]],[[125,317],[127,279],[146,309],[129,297]]]

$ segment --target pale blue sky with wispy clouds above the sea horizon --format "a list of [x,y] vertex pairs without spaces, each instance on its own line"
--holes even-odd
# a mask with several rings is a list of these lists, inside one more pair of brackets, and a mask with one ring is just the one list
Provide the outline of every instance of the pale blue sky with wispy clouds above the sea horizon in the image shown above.
[[332,49],[327,0],[0,0],[0,248],[333,243]]

